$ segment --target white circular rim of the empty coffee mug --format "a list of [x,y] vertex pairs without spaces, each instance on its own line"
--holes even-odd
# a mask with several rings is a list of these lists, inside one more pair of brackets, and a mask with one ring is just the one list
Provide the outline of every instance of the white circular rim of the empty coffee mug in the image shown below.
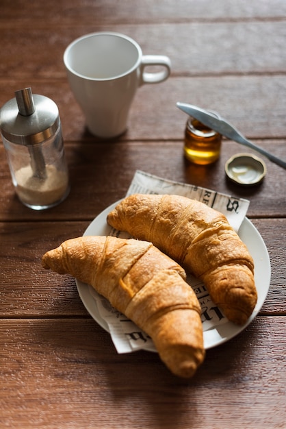
[[[77,71],[75,71],[75,69],[73,69],[73,67],[70,66],[70,64],[68,63],[68,54],[70,53],[70,50],[77,45],[77,43],[81,42],[81,40],[85,40],[87,38],[92,38],[94,36],[116,36],[119,38],[123,38],[125,40],[128,40],[129,42],[131,42],[131,44],[133,46],[135,46],[135,48],[138,51],[138,60],[135,62],[135,64],[133,64],[133,66],[128,69],[127,71],[125,71],[124,73],[120,73],[119,75],[114,75],[112,77],[90,77],[87,75],[83,75],[82,73],[78,73]],[[68,71],[70,71],[70,73],[73,73],[73,75],[77,76],[77,77],[81,77],[83,79],[86,80],[90,80],[90,81],[94,81],[94,82],[107,82],[110,80],[114,80],[114,79],[118,79],[119,77],[123,77],[126,75],[129,75],[129,73],[131,73],[132,71],[134,71],[135,69],[137,69],[138,65],[140,64],[141,60],[142,60],[142,49],[140,47],[140,45],[138,44],[138,42],[136,42],[135,40],[133,40],[133,38],[127,36],[126,34],[122,34],[122,33],[118,33],[118,32],[93,32],[93,33],[88,33],[88,34],[84,34],[83,36],[80,36],[78,38],[76,38],[75,40],[73,40],[73,42],[70,42],[70,44],[66,47],[65,51],[64,51],[64,65],[66,66],[66,69]]]

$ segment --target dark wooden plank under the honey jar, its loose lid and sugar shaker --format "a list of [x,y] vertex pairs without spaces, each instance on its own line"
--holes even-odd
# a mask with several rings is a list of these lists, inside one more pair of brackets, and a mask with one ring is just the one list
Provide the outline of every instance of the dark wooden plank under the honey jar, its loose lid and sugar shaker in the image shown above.
[[[286,159],[283,141],[261,141],[262,147]],[[50,210],[36,212],[15,196],[4,149],[0,148],[0,219],[3,220],[92,220],[110,204],[125,196],[136,169],[215,189],[250,200],[249,217],[282,217],[286,212],[285,170],[265,160],[268,174],[262,184],[244,188],[226,180],[224,164],[237,152],[237,143],[224,141],[220,160],[209,167],[195,166],[183,157],[183,141],[125,143],[75,143],[66,145],[71,191],[66,201]],[[251,151],[248,151],[251,152]]]

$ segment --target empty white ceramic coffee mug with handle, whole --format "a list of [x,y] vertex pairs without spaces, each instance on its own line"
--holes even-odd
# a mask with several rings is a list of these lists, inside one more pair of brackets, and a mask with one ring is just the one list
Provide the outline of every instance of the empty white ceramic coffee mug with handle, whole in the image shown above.
[[[135,40],[114,32],[77,38],[66,48],[64,64],[86,125],[101,138],[114,138],[126,131],[137,88],[163,82],[171,67],[167,56],[144,56]],[[146,66],[163,68],[148,73]]]

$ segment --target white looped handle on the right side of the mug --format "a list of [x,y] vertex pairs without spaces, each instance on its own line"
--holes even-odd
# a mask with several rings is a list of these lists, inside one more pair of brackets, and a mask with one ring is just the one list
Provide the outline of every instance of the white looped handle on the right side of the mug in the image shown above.
[[[144,71],[146,66],[163,66],[163,70],[155,73]],[[157,84],[168,79],[171,73],[171,60],[164,55],[144,55],[141,60],[140,86],[144,84]]]

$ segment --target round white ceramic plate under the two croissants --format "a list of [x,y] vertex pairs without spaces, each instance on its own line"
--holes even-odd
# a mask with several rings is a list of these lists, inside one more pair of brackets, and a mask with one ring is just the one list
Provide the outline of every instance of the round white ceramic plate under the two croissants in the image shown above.
[[[114,209],[118,202],[119,201],[103,210],[103,212],[101,212],[101,214],[97,216],[92,221],[92,223],[90,223],[83,235],[109,235],[111,228],[109,225],[107,225],[106,217],[108,213]],[[239,332],[242,332],[242,330],[244,330],[246,326],[248,326],[249,323],[257,316],[268,294],[271,275],[270,258],[261,235],[247,218],[244,218],[244,221],[239,228],[238,235],[248,247],[248,251],[255,262],[255,284],[258,295],[257,304],[252,312],[252,315],[243,326],[237,326],[232,322],[227,322],[203,332],[205,349],[210,349],[211,347],[222,344],[225,341],[233,338],[233,336],[239,334]],[[96,300],[90,294],[88,285],[79,282],[78,280],[76,280],[76,282],[77,290],[79,291],[79,296],[81,297],[83,305],[86,307],[93,319],[99,323],[103,329],[109,332],[107,323],[99,315]],[[151,350],[150,348],[146,350],[155,351]]]

